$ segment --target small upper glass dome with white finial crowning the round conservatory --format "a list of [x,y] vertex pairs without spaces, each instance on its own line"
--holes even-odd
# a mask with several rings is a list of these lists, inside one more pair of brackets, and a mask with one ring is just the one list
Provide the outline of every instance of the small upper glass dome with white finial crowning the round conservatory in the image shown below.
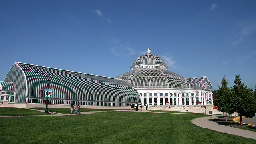
[[138,56],[131,65],[131,70],[136,66],[142,66],[142,65],[159,65],[164,68],[168,68],[166,62],[158,55],[152,54],[151,51],[148,48],[148,51],[146,54],[142,54]]

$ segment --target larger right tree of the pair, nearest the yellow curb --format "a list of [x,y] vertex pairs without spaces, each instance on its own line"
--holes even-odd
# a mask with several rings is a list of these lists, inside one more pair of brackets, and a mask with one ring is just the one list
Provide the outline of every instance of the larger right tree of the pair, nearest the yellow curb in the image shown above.
[[256,99],[252,89],[247,88],[241,82],[240,75],[236,75],[232,94],[234,95],[234,108],[240,116],[240,124],[242,125],[242,116],[254,118],[256,115]]

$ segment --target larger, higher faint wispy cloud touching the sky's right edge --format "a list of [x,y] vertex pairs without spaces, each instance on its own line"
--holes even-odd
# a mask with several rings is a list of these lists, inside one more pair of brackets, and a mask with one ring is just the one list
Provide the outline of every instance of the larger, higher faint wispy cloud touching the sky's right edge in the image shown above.
[[240,22],[236,28],[234,28],[234,41],[231,42],[232,45],[236,45],[243,42],[247,36],[254,34],[256,32],[256,20],[247,21],[244,20]]

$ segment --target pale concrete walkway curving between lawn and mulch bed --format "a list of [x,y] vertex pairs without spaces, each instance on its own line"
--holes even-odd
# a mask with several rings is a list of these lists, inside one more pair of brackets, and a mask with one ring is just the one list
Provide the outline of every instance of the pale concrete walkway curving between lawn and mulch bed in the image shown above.
[[208,116],[208,117],[202,117],[202,118],[195,118],[191,122],[202,128],[208,128],[218,132],[233,134],[233,135],[242,136],[245,138],[252,138],[256,140],[256,132],[252,132],[249,130],[242,130],[239,128],[233,128],[230,126],[224,126],[212,121],[214,118],[218,118],[218,117],[220,116]]

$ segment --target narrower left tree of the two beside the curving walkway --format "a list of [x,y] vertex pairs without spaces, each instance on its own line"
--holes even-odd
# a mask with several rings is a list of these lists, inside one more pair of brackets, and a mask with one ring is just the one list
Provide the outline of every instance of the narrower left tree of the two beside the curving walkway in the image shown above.
[[226,113],[226,121],[227,121],[227,113],[232,114],[235,112],[234,110],[234,98],[231,93],[230,88],[227,86],[228,81],[225,76],[222,78],[221,87],[219,90],[216,90],[215,94],[215,105],[217,106],[217,110]]

